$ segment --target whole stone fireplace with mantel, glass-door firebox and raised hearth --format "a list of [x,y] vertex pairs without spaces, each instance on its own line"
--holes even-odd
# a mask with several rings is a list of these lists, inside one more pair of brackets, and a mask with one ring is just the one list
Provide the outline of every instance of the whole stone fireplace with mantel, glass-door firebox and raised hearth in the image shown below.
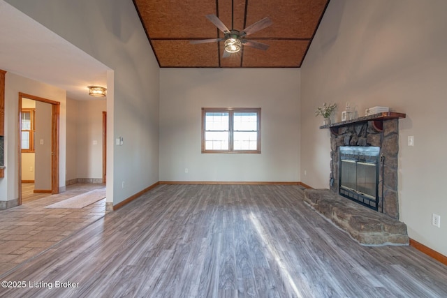
[[362,245],[409,244],[397,195],[398,126],[405,116],[383,112],[320,126],[330,129],[330,189],[307,188],[304,202]]

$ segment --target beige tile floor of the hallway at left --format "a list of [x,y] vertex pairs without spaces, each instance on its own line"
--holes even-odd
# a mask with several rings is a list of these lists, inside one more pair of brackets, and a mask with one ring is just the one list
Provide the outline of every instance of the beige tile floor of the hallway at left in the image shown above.
[[103,217],[105,199],[82,209],[45,208],[98,188],[105,185],[74,184],[64,193],[0,210],[0,276]]

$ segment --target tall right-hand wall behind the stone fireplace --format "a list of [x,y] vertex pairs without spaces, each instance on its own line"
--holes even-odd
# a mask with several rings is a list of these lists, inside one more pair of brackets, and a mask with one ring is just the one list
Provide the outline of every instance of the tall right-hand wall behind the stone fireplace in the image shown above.
[[[409,237],[447,255],[447,1],[330,1],[301,68],[302,181],[328,188],[330,135],[314,111],[324,101],[406,113],[400,120],[400,220]],[[414,147],[407,137],[414,136]],[[307,175],[304,171],[307,170]],[[432,213],[441,228],[431,225]]]

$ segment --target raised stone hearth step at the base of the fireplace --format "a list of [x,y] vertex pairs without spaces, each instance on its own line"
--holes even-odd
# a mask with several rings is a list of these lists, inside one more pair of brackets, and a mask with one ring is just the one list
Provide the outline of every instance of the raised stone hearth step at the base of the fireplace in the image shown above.
[[306,189],[305,202],[365,246],[408,245],[406,224],[329,189]]

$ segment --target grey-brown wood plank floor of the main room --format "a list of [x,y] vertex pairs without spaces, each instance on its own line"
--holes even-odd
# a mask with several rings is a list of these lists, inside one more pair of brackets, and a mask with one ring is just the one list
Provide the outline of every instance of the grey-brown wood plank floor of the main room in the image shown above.
[[0,297],[447,297],[445,265],[360,246],[279,185],[157,186],[0,279],[25,282]]

